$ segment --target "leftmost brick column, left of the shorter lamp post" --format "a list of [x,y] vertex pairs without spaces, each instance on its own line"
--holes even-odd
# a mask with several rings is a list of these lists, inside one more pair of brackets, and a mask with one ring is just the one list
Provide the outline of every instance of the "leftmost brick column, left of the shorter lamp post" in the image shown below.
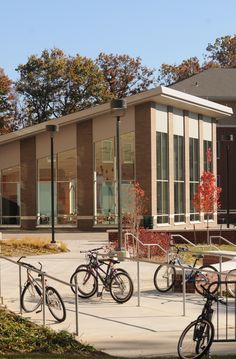
[[20,141],[21,228],[36,227],[36,144],[35,137]]

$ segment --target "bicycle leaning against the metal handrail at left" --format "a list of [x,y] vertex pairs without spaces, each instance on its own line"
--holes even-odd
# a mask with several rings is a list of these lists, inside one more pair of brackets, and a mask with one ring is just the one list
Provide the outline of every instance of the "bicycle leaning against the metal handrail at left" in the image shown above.
[[[18,262],[26,268],[27,279],[23,286],[23,290],[20,296],[21,308],[26,313],[31,313],[36,311],[39,313],[42,311],[43,306],[43,283],[42,283],[42,274],[38,271],[42,270],[42,264],[39,262],[39,268],[34,267],[32,264],[23,262],[21,259],[25,258],[24,256],[18,259]],[[36,271],[38,277],[35,278],[31,272]],[[45,300],[46,305],[52,314],[52,316],[60,323],[66,319],[66,309],[64,302],[57,292],[57,290],[51,286],[47,285],[47,280],[45,280]],[[37,309],[40,310],[37,311]]]

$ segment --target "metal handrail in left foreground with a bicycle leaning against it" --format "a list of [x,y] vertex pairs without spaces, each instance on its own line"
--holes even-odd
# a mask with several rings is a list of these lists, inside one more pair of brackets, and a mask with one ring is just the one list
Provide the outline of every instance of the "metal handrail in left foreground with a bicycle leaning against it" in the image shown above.
[[[13,259],[10,259],[8,257],[4,257],[0,255],[0,259],[6,260],[8,262],[11,262],[13,264],[17,264],[19,267],[19,297],[21,297],[21,293],[22,293],[22,273],[21,273],[21,269],[22,267],[24,267],[26,270],[30,269],[31,271],[39,274],[42,278],[42,288],[43,288],[43,326],[46,326],[46,318],[45,318],[45,305],[46,305],[46,297],[45,297],[45,277],[50,278],[56,282],[59,282],[61,284],[64,284],[66,286],[74,286],[75,287],[75,321],[76,321],[76,332],[75,334],[78,335],[79,334],[79,325],[78,325],[78,312],[79,312],[79,308],[78,308],[78,286],[77,286],[77,277],[75,277],[75,284],[71,284],[68,282],[65,282],[59,278],[56,278],[52,275],[47,274],[46,272],[37,269],[37,268],[32,268],[32,267],[28,267],[24,262],[20,262],[20,261],[14,261]],[[1,287],[0,287],[1,288]],[[2,298],[2,293],[0,293],[0,298]],[[20,313],[22,314],[22,307],[21,307],[21,300],[19,300],[20,302]]]

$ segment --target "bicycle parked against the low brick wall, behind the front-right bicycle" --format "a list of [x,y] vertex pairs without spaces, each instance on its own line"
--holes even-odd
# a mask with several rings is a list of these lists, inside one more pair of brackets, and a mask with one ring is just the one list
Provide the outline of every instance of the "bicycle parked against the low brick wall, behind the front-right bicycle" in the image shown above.
[[212,293],[215,293],[218,290],[220,281],[220,275],[217,269],[212,265],[203,265],[196,268],[197,262],[203,258],[202,254],[192,254],[192,257],[195,257],[194,264],[186,264],[180,258],[180,253],[189,252],[189,250],[185,247],[177,247],[176,245],[172,245],[172,247],[176,249],[176,253],[173,252],[170,261],[161,264],[154,273],[153,282],[157,291],[167,292],[174,286],[176,282],[175,266],[177,265],[186,267],[185,282],[194,283],[194,287],[199,294],[202,294],[202,285],[209,287],[209,284],[213,281],[215,285],[212,287]]

